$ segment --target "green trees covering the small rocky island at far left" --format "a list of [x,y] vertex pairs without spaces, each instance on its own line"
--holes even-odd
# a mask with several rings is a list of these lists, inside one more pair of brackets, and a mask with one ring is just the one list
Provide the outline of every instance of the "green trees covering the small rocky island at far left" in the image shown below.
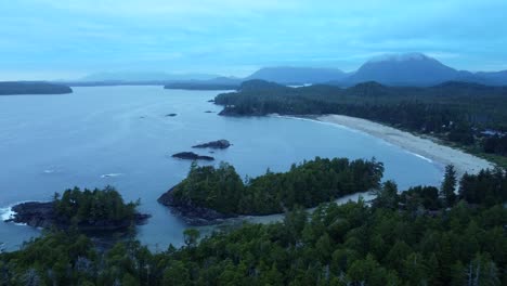
[[53,202],[58,219],[77,225],[104,220],[131,220],[139,204],[125,204],[121,195],[112,186],[93,191],[74,187],[63,195],[55,193]]

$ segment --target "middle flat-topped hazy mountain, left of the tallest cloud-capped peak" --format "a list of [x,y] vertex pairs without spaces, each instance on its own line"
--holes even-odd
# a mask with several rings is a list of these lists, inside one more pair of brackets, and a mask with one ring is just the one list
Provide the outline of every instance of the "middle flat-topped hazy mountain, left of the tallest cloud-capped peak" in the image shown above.
[[285,84],[303,84],[341,80],[346,76],[346,73],[337,68],[264,67],[246,77],[245,80],[262,79]]

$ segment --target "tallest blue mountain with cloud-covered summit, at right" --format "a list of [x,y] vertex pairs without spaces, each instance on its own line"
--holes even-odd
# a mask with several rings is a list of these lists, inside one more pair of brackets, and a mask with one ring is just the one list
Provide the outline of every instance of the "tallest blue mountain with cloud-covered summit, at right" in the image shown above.
[[393,54],[373,58],[363,64],[346,81],[354,84],[377,81],[391,86],[431,86],[459,78],[474,78],[421,53]]

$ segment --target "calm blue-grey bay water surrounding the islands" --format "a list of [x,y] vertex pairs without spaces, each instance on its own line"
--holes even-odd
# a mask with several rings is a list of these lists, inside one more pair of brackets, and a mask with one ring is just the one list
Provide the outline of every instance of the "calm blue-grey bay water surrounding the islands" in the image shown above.
[[[128,200],[141,198],[150,223],[138,237],[152,248],[182,244],[185,224],[156,199],[181,181],[190,161],[171,154],[196,143],[227,139],[234,145],[212,156],[242,176],[322,157],[385,162],[385,179],[400,187],[438,184],[442,166],[346,128],[286,118],[229,118],[207,101],[216,91],[160,87],[75,88],[68,95],[0,96],[0,209],[23,200],[49,200],[72,186],[116,186]],[[177,117],[166,117],[176,113]],[[202,151],[200,153],[206,153]],[[104,174],[113,174],[104,177]],[[0,213],[1,214],[1,213]],[[10,249],[39,231],[0,222]]]

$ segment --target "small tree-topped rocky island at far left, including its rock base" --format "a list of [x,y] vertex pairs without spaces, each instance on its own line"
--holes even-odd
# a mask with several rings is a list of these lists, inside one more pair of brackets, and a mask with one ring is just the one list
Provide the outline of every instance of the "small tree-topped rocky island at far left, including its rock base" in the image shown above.
[[55,193],[52,202],[28,202],[12,207],[15,214],[6,222],[43,229],[76,226],[86,232],[122,231],[142,224],[151,217],[139,213],[138,206],[139,202],[126,204],[112,186],[93,191],[74,187],[63,195]]

